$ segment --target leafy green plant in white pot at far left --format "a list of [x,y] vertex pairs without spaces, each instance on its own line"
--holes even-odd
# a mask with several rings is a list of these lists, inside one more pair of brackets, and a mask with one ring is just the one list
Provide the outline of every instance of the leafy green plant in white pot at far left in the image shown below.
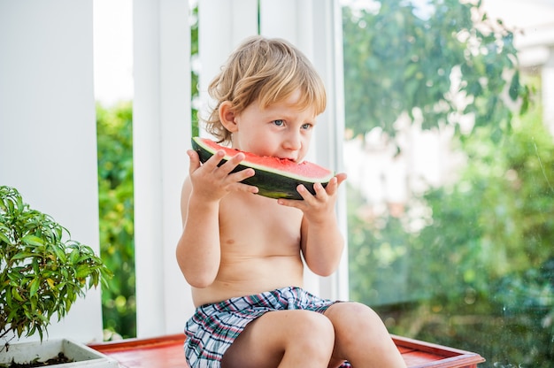
[[[53,358],[39,357],[42,350],[54,357],[62,353],[61,361],[73,359],[64,355],[106,359],[101,354],[93,357],[94,350],[73,341],[42,341],[51,318],[64,318],[78,296],[111,276],[92,249],[70,237],[50,215],[24,203],[17,189],[0,187],[0,367],[33,366],[14,364],[18,359],[29,363]],[[40,347],[30,348],[31,342],[10,344],[16,336],[33,334],[39,335],[40,342],[34,343]],[[73,354],[76,345],[85,351]],[[19,350],[31,356],[14,356]],[[117,366],[110,364],[87,366]]]

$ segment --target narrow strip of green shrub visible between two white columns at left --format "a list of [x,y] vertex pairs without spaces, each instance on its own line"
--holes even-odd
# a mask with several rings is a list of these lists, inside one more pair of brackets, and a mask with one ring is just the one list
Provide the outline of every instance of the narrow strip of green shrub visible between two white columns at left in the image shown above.
[[104,338],[136,336],[133,105],[96,106],[100,249],[114,277],[102,293]]

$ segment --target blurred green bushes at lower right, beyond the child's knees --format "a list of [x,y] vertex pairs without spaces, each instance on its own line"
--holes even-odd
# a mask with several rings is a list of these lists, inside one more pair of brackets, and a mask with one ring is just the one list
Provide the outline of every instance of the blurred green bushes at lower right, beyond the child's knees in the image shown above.
[[412,199],[431,214],[420,232],[410,219],[365,221],[350,190],[350,294],[395,334],[481,352],[484,366],[549,367],[554,143],[536,112],[513,125],[504,144],[491,128],[473,134],[460,180]]

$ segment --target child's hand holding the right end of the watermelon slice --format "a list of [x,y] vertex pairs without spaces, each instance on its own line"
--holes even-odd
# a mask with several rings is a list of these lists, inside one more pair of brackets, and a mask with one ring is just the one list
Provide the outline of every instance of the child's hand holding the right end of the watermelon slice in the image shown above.
[[338,173],[329,180],[326,188],[319,183],[314,184],[315,196],[304,185],[299,185],[296,189],[304,201],[281,198],[277,202],[303,211],[304,217],[312,223],[322,223],[329,219],[329,215],[334,216],[336,196],[344,180],[346,180],[346,174]]

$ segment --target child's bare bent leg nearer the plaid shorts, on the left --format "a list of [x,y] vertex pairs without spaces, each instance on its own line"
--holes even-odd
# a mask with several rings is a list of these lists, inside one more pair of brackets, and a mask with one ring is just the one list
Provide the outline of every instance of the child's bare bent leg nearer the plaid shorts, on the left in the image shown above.
[[327,367],[334,328],[314,311],[269,311],[250,322],[221,361],[222,368]]

